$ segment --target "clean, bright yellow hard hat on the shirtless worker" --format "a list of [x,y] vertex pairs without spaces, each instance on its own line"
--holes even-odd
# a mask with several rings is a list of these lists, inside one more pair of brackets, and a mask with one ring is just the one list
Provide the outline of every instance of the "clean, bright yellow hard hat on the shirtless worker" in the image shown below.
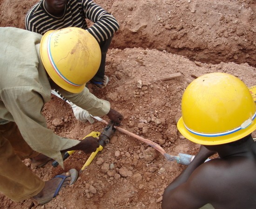
[[186,88],[177,127],[197,144],[226,144],[256,130],[255,118],[256,104],[247,86],[233,75],[214,72]]

